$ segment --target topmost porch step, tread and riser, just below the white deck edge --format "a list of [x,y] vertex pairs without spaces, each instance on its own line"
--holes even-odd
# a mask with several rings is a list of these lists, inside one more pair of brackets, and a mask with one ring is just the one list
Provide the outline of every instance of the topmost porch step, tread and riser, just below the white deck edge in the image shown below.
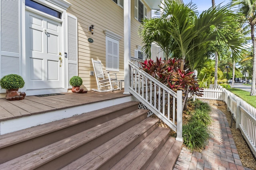
[[130,101],[97,111],[0,135],[0,164],[138,109]]

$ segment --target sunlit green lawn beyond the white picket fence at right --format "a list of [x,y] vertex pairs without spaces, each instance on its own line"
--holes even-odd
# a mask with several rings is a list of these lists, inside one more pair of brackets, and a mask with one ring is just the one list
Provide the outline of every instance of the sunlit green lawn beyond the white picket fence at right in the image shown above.
[[250,92],[237,88],[227,88],[227,90],[231,91],[232,93],[256,108],[256,96],[250,96]]

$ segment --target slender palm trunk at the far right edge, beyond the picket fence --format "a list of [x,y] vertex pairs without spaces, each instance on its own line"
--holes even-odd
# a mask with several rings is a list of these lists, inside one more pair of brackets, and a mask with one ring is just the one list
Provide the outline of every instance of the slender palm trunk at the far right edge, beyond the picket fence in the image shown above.
[[256,81],[256,42],[254,37],[254,24],[251,24],[251,36],[253,47],[253,65],[252,65],[252,89],[250,96],[255,96],[255,81]]

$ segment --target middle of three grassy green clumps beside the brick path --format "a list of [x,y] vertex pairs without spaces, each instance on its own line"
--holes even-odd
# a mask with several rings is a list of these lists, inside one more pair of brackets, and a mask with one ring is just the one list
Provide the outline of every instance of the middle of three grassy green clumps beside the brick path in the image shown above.
[[209,126],[212,124],[212,118],[209,114],[209,111],[204,109],[196,109],[192,117],[190,118],[190,122],[200,122],[205,126]]

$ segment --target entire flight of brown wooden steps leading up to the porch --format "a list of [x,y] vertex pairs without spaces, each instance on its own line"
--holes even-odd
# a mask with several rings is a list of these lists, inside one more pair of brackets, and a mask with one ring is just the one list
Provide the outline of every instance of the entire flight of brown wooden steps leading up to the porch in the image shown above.
[[147,112],[128,102],[2,135],[0,170],[173,167],[182,143]]

